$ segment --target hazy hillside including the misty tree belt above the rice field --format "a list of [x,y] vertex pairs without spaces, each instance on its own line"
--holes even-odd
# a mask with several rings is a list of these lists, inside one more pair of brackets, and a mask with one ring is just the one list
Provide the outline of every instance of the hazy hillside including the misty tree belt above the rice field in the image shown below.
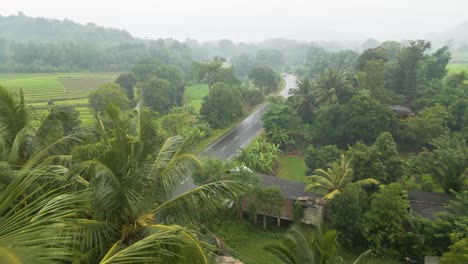
[[127,71],[156,58],[188,71],[191,50],[171,39],[142,40],[127,31],[64,19],[0,16],[0,72]]

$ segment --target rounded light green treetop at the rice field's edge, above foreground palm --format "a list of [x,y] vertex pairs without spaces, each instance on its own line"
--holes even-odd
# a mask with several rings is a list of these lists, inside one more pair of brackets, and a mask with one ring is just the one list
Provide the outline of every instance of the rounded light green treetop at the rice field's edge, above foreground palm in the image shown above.
[[117,84],[101,84],[89,93],[89,107],[97,113],[104,113],[107,103],[113,103],[122,109],[130,108],[130,101]]

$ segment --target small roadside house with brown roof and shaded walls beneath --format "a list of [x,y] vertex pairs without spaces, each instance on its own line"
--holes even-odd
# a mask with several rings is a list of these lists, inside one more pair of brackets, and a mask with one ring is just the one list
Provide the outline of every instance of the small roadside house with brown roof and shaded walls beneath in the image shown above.
[[[261,211],[257,211],[257,214],[276,218],[278,225],[280,225],[281,220],[292,222],[294,221],[294,203],[299,201],[303,208],[302,223],[315,225],[323,221],[324,203],[322,202],[322,196],[304,192],[305,183],[262,174],[259,176],[262,187],[277,186],[285,199],[279,215],[272,215],[271,213]],[[241,210],[244,212],[249,211],[248,199],[241,201]]]

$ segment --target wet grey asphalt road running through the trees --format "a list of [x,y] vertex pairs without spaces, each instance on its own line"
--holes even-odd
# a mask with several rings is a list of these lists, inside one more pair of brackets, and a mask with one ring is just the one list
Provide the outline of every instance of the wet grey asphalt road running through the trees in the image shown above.
[[[283,79],[286,82],[286,86],[279,95],[287,98],[290,96],[289,90],[296,88],[296,77],[293,75],[283,75]],[[267,110],[268,103],[265,103],[262,107],[244,119],[242,123],[207,147],[202,152],[202,156],[231,161],[236,156],[240,148],[247,147],[252,140],[254,140],[256,136],[263,131],[261,117]],[[177,191],[176,195],[190,191],[193,188],[195,188],[195,184],[193,183],[192,177],[188,177],[182,181],[180,189]]]

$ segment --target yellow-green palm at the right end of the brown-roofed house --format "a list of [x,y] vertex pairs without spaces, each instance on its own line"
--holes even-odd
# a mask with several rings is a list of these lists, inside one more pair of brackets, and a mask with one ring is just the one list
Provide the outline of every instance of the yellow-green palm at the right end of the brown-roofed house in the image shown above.
[[313,175],[306,177],[312,183],[308,184],[305,190],[323,193],[325,194],[324,198],[329,200],[343,191],[347,185],[365,186],[379,183],[373,178],[352,182],[353,170],[349,165],[350,162],[351,160],[347,159],[345,155],[341,155],[340,161],[335,162],[331,168],[314,170]]

